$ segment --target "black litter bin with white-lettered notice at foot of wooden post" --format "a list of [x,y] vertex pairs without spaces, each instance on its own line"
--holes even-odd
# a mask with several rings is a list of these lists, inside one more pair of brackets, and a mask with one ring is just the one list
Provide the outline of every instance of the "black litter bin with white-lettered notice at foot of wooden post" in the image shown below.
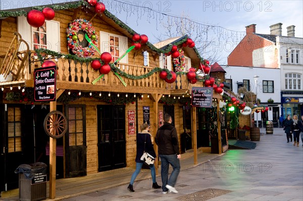
[[19,173],[19,200],[46,199],[46,167],[44,163],[22,164]]

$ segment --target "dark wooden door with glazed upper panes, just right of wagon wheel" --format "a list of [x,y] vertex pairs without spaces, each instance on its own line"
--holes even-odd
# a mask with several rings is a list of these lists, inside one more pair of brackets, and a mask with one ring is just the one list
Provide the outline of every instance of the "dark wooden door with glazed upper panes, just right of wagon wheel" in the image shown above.
[[68,132],[65,134],[66,177],[85,176],[86,114],[85,105],[67,105]]

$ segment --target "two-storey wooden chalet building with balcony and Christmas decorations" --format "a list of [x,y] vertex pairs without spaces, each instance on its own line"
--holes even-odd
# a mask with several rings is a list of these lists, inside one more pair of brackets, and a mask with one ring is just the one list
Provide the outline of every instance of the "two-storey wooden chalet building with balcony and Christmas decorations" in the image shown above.
[[[44,7],[47,6],[40,9]],[[140,124],[149,121],[150,133],[155,136],[165,113],[173,116],[180,144],[181,134],[191,130],[190,148],[196,154],[197,115],[195,108],[189,107],[190,94],[192,87],[203,87],[203,82],[191,84],[181,73],[169,84],[159,76],[159,67],[172,66],[171,62],[165,63],[171,44],[181,48],[187,36],[165,48],[147,42],[129,52],[114,68],[126,86],[113,71],[92,84],[100,73],[91,67],[91,62],[100,56],[97,52],[87,58],[70,54],[69,24],[76,19],[89,20],[101,53],[110,52],[111,39],[114,40],[115,60],[132,46],[136,32],[107,10],[95,15],[94,8],[84,1],[48,7],[54,8],[55,18],[46,20],[43,29],[27,23],[25,16],[32,8],[2,11],[0,15],[0,72],[13,75],[11,80],[0,83],[0,191],[18,187],[18,174],[14,171],[20,164],[47,164],[50,182],[133,167]],[[36,41],[36,34],[40,34],[40,39],[46,37],[44,44]],[[186,69],[198,68],[203,59],[196,49],[182,49]],[[35,102],[34,70],[48,60],[57,66],[56,101]],[[4,65],[7,61],[12,64],[8,70]],[[219,103],[222,96],[214,93],[214,97]],[[44,119],[52,111],[62,112],[67,119],[67,132],[61,138],[50,138],[44,129]],[[52,185],[50,190],[54,189]],[[54,197],[54,192],[49,194]]]

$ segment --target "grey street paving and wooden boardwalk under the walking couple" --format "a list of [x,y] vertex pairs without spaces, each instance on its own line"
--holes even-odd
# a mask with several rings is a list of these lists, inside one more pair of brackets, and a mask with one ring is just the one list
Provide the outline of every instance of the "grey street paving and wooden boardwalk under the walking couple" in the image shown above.
[[[198,152],[197,165],[193,165],[192,153],[185,153],[175,186],[178,193],[162,194],[162,189],[151,188],[149,170],[141,171],[133,185],[135,192],[129,192],[134,171],[129,168],[56,180],[55,200],[301,201],[302,142],[293,146],[286,141],[283,129],[274,128],[273,134],[261,134],[260,141],[254,141],[255,149],[229,149],[222,155]],[[157,182],[162,184],[160,174]],[[18,200],[18,193],[0,200]]]

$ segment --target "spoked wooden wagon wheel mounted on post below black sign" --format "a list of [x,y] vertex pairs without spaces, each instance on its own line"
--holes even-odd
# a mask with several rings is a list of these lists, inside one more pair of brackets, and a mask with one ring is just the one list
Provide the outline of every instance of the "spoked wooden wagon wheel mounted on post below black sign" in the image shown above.
[[66,133],[67,127],[67,119],[59,111],[48,113],[44,119],[44,130],[49,137],[62,137]]

